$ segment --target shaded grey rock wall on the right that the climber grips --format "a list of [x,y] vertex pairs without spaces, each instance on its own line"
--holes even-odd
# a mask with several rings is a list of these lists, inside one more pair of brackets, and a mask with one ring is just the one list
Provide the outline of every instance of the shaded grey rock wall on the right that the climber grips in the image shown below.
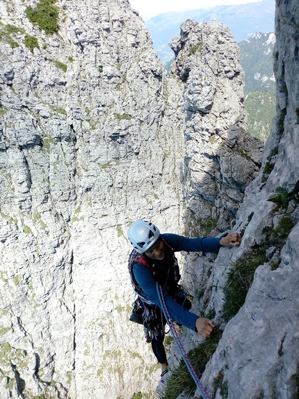
[[[264,253],[202,377],[212,398],[298,398],[298,18],[298,1],[277,1],[277,116],[259,176],[237,214],[241,247],[221,250],[214,266],[211,285],[223,287],[236,260]],[[213,288],[212,297],[221,322],[223,290]]]

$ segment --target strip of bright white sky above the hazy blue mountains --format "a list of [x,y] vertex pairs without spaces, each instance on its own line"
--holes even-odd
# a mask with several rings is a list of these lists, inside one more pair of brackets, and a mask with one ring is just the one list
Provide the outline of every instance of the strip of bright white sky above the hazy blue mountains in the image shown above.
[[161,13],[168,13],[168,11],[212,8],[229,4],[256,3],[257,1],[261,0],[129,0],[129,3],[143,19],[147,19]]

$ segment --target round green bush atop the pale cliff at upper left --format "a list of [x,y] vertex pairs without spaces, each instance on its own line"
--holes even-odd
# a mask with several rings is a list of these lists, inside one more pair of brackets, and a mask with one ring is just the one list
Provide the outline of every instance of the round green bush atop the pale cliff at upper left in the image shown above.
[[58,7],[54,6],[56,0],[40,0],[32,8],[28,6],[25,13],[31,24],[38,25],[40,29],[47,34],[53,34],[58,31]]

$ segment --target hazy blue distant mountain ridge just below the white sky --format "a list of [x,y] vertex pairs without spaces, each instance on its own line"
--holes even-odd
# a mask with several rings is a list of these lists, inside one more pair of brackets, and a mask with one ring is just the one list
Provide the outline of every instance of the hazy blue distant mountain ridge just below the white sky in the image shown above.
[[182,22],[195,19],[196,22],[218,22],[229,26],[236,42],[241,42],[256,32],[273,32],[275,0],[247,3],[234,6],[216,6],[207,10],[197,9],[159,14],[147,19],[145,24],[152,34],[154,49],[166,63],[173,57],[168,46],[173,37],[179,35]]

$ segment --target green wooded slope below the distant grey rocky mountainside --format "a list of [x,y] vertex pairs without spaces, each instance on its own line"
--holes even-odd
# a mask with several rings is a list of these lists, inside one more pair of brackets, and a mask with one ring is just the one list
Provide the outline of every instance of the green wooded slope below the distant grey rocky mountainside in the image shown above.
[[275,90],[246,93],[244,105],[248,112],[248,132],[261,141],[266,141],[276,113]]

